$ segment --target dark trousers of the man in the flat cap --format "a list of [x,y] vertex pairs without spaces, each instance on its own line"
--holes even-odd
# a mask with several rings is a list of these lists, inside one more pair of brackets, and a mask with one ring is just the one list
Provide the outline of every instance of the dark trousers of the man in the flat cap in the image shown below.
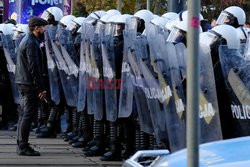
[[17,144],[19,148],[28,146],[32,121],[38,111],[38,94],[33,86],[18,85],[21,93],[21,114],[17,126]]

